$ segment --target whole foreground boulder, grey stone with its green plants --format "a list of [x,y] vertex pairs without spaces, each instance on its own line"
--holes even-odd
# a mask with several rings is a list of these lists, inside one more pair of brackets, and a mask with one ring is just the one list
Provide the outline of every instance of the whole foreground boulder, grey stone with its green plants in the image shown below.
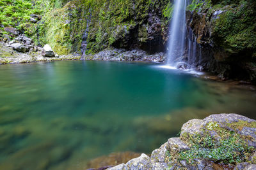
[[189,120],[149,157],[144,153],[119,169],[255,169],[256,121],[237,114]]

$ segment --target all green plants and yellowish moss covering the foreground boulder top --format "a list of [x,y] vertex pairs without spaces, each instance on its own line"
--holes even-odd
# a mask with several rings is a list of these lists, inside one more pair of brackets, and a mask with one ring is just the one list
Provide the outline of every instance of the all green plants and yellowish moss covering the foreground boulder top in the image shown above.
[[201,132],[198,134],[184,133],[180,138],[189,146],[190,150],[166,152],[168,162],[179,164],[181,160],[186,160],[191,165],[196,164],[195,159],[234,165],[239,162],[246,162],[255,152],[255,148],[248,146],[247,143],[248,140],[252,139],[252,136],[239,134],[238,131],[242,131],[244,127],[255,128],[256,123],[239,121],[224,125],[209,122],[201,127]]

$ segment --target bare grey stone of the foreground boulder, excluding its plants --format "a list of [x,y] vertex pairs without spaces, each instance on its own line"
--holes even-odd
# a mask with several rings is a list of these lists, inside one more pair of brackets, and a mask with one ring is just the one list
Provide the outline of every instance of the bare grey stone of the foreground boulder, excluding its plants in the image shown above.
[[[218,114],[218,115],[211,115],[203,120],[193,119],[189,120],[186,124],[182,126],[182,133],[188,132],[190,134],[197,134],[198,132],[202,131],[202,127],[208,125],[209,122],[214,122],[213,125],[218,124],[218,126],[225,127],[227,123],[234,123],[239,121],[245,122],[255,122],[250,118],[243,117],[237,114]],[[207,130],[207,129],[204,129]],[[213,130],[207,130],[211,132],[212,136],[218,136],[216,132]],[[255,128],[251,127],[244,127],[240,134],[244,136],[252,136],[253,141],[255,136]],[[252,141],[252,142],[253,142]],[[186,160],[180,160],[179,163],[177,162],[170,162],[168,155],[166,154],[168,151],[170,153],[179,153],[182,150],[189,150],[189,146],[186,145],[180,138],[170,138],[166,143],[164,143],[160,148],[154,150],[151,154],[151,157],[148,157],[145,154],[141,154],[140,157],[136,159],[132,159],[127,164],[121,164],[118,169],[223,169],[218,164],[211,162],[209,160],[200,160],[194,159],[196,164],[189,164]],[[237,164],[235,169],[256,169],[256,152],[248,159],[250,162],[243,162],[241,164]],[[111,169],[111,168],[110,168]]]

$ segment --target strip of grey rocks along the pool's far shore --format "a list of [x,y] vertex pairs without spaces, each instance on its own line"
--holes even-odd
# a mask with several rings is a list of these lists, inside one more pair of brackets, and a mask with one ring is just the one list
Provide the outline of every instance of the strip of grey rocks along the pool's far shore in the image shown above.
[[0,43],[0,65],[29,63],[38,61],[54,61],[54,60],[109,60],[109,61],[145,61],[145,62],[164,62],[165,53],[159,52],[154,55],[148,55],[147,52],[139,49],[124,50],[124,49],[106,49],[95,55],[60,55],[55,57],[42,56],[42,48],[33,46],[33,49],[20,52],[15,50],[8,43]]

